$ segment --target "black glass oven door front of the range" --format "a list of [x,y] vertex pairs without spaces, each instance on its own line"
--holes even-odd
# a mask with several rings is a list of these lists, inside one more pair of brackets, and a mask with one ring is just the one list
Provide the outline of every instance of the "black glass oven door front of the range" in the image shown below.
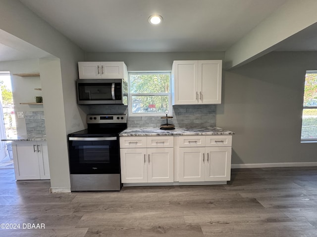
[[118,141],[69,141],[71,174],[120,173]]

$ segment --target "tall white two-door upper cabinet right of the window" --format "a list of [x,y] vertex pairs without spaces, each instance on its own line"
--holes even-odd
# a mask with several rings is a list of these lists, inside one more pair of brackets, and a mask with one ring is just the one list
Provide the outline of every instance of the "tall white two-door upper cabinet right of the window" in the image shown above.
[[173,105],[220,104],[222,60],[174,61]]

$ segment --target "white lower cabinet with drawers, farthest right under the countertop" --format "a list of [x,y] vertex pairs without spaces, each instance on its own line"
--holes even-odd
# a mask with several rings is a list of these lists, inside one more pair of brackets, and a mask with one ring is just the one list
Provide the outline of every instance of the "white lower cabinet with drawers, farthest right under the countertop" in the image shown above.
[[[221,145],[208,142],[213,139]],[[231,136],[184,136],[179,146],[179,182],[230,180]]]

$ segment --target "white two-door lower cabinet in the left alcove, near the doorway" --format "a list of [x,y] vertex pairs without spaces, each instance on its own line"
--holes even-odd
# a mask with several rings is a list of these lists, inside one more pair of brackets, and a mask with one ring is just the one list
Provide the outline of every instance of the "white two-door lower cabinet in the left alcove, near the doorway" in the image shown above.
[[50,179],[46,142],[14,141],[12,153],[16,180]]

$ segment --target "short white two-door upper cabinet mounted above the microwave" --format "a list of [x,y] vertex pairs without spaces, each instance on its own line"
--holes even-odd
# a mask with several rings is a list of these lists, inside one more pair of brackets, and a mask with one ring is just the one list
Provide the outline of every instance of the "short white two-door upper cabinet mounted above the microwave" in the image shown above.
[[128,79],[124,62],[78,62],[79,79]]

